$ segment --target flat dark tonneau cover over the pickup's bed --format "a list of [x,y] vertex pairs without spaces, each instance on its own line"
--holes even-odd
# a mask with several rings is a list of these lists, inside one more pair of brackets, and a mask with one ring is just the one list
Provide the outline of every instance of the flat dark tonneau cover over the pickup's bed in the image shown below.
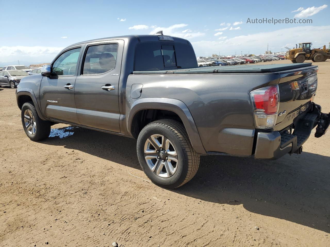
[[297,64],[267,64],[267,65],[238,65],[238,66],[210,66],[192,69],[133,71],[133,74],[196,74],[196,73],[267,73],[298,69],[311,66],[312,63]]

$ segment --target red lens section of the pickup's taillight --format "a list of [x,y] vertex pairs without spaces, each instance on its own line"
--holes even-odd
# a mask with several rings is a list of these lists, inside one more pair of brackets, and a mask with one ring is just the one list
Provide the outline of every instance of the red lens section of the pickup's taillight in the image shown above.
[[279,93],[275,86],[267,88],[264,94],[255,94],[254,103],[257,110],[263,110],[265,114],[274,114],[277,112]]

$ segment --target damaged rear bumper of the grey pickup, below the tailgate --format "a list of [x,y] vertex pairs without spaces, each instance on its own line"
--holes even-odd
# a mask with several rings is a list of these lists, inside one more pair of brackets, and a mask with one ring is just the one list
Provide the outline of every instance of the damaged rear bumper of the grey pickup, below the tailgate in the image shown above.
[[278,159],[287,153],[301,153],[302,145],[318,124],[320,115],[323,114],[320,106],[315,107],[315,104],[313,106],[312,110],[295,123],[292,134],[288,131],[259,132],[254,157],[256,159]]

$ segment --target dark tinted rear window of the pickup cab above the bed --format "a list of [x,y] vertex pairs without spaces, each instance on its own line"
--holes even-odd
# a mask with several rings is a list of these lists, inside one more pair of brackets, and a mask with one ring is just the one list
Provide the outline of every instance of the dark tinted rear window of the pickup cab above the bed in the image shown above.
[[194,50],[188,44],[139,43],[135,50],[135,71],[196,68]]

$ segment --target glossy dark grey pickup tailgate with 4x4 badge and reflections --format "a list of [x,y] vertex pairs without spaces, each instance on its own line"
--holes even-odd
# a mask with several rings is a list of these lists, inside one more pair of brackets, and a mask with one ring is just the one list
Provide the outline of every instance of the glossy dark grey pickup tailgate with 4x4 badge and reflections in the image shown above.
[[274,130],[302,118],[310,107],[317,89],[317,66],[280,72],[280,105]]

